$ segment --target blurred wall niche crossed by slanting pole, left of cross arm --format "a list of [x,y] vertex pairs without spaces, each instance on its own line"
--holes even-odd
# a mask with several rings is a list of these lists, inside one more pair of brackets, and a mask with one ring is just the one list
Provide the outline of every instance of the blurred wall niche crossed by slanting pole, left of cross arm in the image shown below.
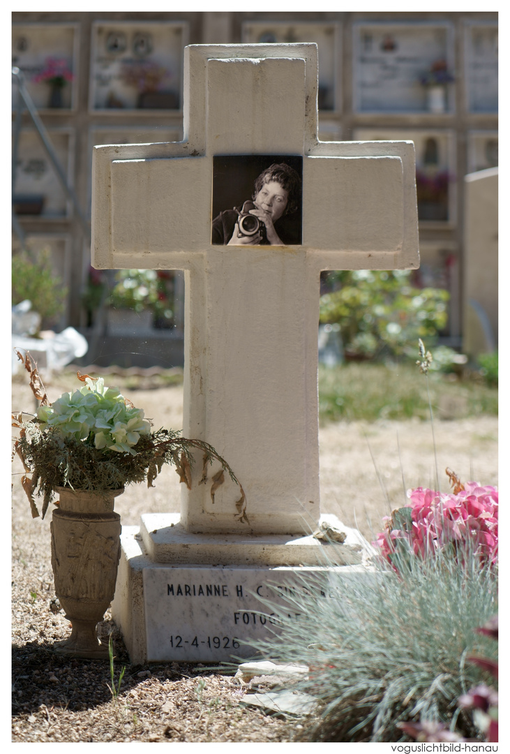
[[[56,157],[72,182],[74,131],[51,128],[48,134]],[[35,128],[26,128],[20,133],[12,203],[17,215],[47,219],[69,216],[69,199]]]

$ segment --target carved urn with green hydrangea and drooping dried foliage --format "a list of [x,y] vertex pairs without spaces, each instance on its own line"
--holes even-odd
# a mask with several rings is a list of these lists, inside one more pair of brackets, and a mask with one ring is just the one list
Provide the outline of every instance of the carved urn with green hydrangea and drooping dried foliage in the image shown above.
[[[80,375],[74,392],[49,403],[37,366],[29,352],[17,351],[30,375],[30,387],[38,401],[35,415],[13,415],[19,437],[13,458],[23,462],[21,483],[29,498],[32,516],[39,511],[35,495],[42,498],[41,515],[54,495],[51,521],[51,565],[55,592],[71,621],[68,639],[56,642],[53,651],[72,657],[108,657],[108,647],[97,639],[96,625],[115,593],[121,556],[121,517],[114,511],[115,498],[125,486],[146,481],[152,487],[163,464],[173,464],[179,480],[191,489],[192,452],[202,455],[200,484],[215,491],[225,472],[239,486],[234,516],[249,524],[246,498],[231,467],[203,440],[188,440],[179,432],[153,431],[142,409],[107,388],[102,378]],[[218,467],[208,478],[210,464]]]

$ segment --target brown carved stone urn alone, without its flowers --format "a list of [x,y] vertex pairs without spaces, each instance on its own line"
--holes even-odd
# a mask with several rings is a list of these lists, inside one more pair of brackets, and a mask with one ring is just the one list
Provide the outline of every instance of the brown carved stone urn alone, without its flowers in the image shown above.
[[69,639],[53,651],[72,657],[106,658],[108,647],[97,639],[115,593],[121,557],[121,516],[115,498],[123,489],[88,492],[58,487],[60,501],[51,520],[51,566],[55,593],[71,621]]

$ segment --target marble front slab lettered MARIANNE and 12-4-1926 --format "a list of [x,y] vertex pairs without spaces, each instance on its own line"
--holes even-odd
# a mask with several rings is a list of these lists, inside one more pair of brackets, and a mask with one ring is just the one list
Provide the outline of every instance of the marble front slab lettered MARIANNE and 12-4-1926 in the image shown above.
[[[151,566],[143,569],[147,661],[218,662],[253,657],[252,645],[278,630],[278,615],[299,621],[289,593],[306,590],[312,572],[328,571],[317,599],[337,599],[332,574],[364,574],[362,566],[296,569]],[[266,601],[264,603],[264,601]],[[313,639],[313,637],[311,637]]]

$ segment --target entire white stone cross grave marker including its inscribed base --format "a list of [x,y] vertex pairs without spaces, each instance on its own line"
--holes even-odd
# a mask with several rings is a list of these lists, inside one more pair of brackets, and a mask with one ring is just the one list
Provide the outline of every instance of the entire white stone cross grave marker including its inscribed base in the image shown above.
[[[317,78],[315,44],[191,45],[184,140],[94,148],[93,266],[184,271],[183,435],[215,446],[246,493],[214,469],[200,483],[197,458],[180,516],[123,530],[112,612],[136,663],[249,656],[256,594],[324,568],[312,532],[342,528],[319,507],[319,276],[418,266],[414,146],[319,142]],[[225,157],[241,173],[255,157],[298,166],[295,243],[212,243]],[[345,535],[331,572],[355,576],[366,546]]]

